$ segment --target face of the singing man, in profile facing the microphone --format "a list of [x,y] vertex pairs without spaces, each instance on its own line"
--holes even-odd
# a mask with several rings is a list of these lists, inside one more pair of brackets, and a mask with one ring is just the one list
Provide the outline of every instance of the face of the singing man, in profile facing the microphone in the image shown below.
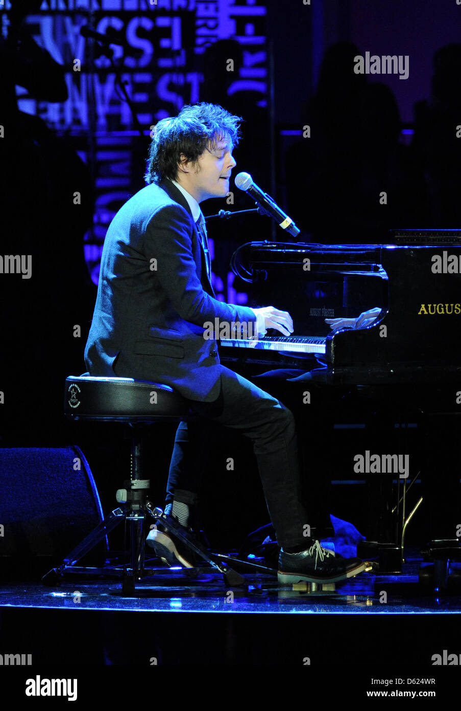
[[[178,170],[180,183],[198,203],[207,198],[225,198],[229,192],[230,171],[236,166],[230,138],[216,141],[199,157],[198,165],[183,163]],[[226,179],[227,178],[227,179]]]

